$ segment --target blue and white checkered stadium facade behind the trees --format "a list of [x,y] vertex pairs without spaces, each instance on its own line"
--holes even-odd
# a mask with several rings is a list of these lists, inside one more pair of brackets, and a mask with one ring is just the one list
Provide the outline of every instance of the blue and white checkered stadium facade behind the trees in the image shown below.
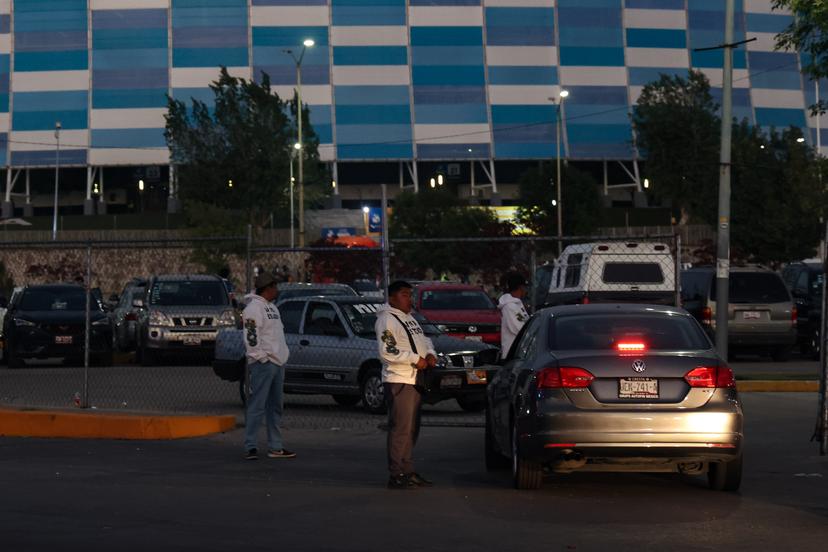
[[[659,73],[722,81],[723,0],[0,0],[0,161],[12,174],[168,163],[165,95],[225,65],[302,95],[331,163],[635,158],[630,106]],[[737,0],[734,109],[816,144],[815,87],[774,51],[790,16]],[[718,90],[718,88],[716,89]],[[824,143],[828,144],[825,140]],[[494,171],[492,171],[494,173]],[[488,171],[487,171],[488,174]],[[494,178],[494,174],[489,175]],[[7,185],[8,191],[8,185]],[[7,198],[8,200],[8,198]]]

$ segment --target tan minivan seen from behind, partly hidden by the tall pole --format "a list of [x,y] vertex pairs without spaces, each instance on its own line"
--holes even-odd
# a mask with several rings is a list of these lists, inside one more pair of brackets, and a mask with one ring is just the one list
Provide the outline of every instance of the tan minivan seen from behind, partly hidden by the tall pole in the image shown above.
[[[784,361],[796,343],[797,309],[782,278],[759,266],[731,267],[728,350],[769,354]],[[682,304],[712,338],[716,335],[716,271],[681,273]]]

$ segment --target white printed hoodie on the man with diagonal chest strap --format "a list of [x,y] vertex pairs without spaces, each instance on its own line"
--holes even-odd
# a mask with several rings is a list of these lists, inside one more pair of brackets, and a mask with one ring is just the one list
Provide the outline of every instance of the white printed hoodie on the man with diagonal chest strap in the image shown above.
[[[416,353],[411,348],[406,328],[414,339]],[[382,381],[385,383],[414,385],[417,381],[417,361],[429,354],[437,356],[434,344],[423,332],[420,323],[411,314],[390,305],[384,305],[377,312],[374,330],[377,333],[377,347],[382,359]]]

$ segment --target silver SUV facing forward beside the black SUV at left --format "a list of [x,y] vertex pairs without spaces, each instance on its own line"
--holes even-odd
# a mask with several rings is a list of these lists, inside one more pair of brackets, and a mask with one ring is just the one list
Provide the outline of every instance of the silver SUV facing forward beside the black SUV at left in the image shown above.
[[166,353],[211,358],[216,334],[240,319],[218,276],[154,276],[144,299],[134,299],[138,316],[138,360],[156,364]]

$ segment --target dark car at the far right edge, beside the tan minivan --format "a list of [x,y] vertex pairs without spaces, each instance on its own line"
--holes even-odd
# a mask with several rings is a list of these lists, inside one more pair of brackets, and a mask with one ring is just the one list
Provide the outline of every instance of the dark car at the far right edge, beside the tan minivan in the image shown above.
[[804,355],[818,359],[822,345],[822,261],[791,263],[782,270],[782,279],[796,304],[796,334]]

